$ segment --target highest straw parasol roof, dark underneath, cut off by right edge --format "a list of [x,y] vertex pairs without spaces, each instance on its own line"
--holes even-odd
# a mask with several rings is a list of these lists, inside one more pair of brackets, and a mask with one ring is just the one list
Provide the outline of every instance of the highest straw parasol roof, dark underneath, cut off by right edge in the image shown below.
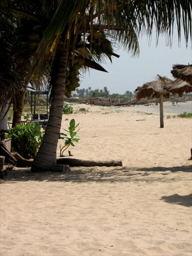
[[192,85],[192,65],[173,65],[171,74]]

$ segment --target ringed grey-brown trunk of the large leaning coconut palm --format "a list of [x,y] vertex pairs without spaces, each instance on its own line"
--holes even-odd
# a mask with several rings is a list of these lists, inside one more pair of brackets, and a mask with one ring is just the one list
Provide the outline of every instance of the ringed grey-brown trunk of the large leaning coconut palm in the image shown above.
[[55,57],[52,70],[52,101],[50,117],[43,137],[42,145],[34,159],[31,171],[50,171],[56,164],[57,145],[61,129],[63,101],[65,97],[65,81],[67,67],[67,51],[60,50]]

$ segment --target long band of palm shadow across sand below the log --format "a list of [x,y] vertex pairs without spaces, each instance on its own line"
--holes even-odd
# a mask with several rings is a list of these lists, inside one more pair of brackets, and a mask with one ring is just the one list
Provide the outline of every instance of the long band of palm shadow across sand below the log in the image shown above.
[[[1,183],[17,181],[58,181],[58,182],[172,182],[182,179],[178,172],[191,172],[191,166],[175,167],[73,167],[69,172],[39,172],[31,173],[29,168],[17,168],[9,171]],[[168,175],[170,172],[173,175]],[[156,174],[156,175],[154,175]]]

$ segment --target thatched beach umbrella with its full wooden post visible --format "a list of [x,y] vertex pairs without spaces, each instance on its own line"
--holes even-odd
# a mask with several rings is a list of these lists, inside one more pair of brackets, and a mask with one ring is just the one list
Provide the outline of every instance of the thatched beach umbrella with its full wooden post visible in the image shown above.
[[165,76],[159,76],[155,81],[151,81],[143,84],[141,87],[138,87],[136,98],[140,100],[142,98],[158,98],[160,103],[160,127],[164,127],[163,122],[163,99],[170,97],[170,92],[165,89],[167,84],[172,82],[171,79]]

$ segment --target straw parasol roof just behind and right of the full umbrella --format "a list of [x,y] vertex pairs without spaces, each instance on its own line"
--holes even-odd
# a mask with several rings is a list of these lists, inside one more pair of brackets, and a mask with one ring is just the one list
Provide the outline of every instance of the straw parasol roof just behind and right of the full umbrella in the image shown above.
[[165,89],[173,94],[178,93],[182,97],[183,93],[192,92],[192,84],[181,79],[175,79],[170,84],[165,86]]

